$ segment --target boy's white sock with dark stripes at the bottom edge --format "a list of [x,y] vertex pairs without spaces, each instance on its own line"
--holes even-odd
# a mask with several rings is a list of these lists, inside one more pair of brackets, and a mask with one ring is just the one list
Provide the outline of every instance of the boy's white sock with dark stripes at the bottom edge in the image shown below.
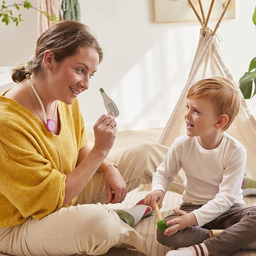
[[166,256],[208,256],[208,250],[204,243],[189,247],[180,247],[177,250],[167,252]]

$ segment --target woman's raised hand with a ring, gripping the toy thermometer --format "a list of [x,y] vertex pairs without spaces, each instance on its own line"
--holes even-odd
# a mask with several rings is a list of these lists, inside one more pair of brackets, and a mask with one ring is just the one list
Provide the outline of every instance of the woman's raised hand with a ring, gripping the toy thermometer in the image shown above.
[[101,115],[94,124],[93,130],[95,137],[94,148],[102,150],[108,154],[114,144],[117,131],[113,112]]

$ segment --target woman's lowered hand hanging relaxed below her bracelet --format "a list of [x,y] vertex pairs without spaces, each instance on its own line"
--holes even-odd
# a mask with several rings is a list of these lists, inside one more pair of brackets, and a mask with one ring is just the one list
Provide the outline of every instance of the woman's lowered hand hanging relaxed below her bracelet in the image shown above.
[[127,185],[114,165],[108,166],[105,169],[105,186],[107,194],[106,204],[124,201],[127,194]]

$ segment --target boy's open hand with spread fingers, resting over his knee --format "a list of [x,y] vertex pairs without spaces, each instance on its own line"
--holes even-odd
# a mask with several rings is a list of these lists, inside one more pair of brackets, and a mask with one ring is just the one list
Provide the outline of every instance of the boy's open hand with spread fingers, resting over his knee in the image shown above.
[[185,211],[178,210],[178,209],[173,209],[173,211],[178,216],[166,222],[166,225],[172,225],[171,227],[168,227],[163,233],[166,236],[171,236],[175,234],[178,230],[197,224],[196,217],[192,212],[187,213]]

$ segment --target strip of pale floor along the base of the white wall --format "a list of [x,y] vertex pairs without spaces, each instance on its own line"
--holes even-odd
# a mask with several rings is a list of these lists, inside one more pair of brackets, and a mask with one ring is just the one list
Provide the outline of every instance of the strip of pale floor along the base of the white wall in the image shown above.
[[[146,129],[146,130],[139,130],[139,131],[117,131],[116,133],[116,140],[112,147],[112,151],[118,150],[120,148],[131,146],[139,142],[143,142],[145,140],[151,142],[158,142],[163,128],[156,128],[156,129]],[[94,145],[94,134],[88,133],[88,146],[91,148]]]

